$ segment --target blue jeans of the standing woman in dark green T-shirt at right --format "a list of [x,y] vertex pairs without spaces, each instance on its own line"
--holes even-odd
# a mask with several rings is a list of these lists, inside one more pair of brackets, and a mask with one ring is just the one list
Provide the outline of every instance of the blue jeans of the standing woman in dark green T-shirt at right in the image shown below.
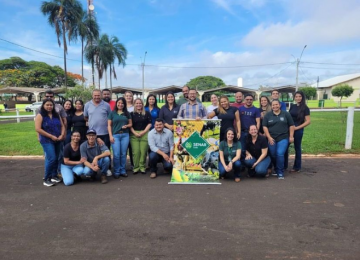
[[285,152],[289,146],[289,139],[283,139],[271,145],[269,143],[269,152],[273,165],[275,166],[275,172],[278,177],[284,177],[284,163],[285,163]]

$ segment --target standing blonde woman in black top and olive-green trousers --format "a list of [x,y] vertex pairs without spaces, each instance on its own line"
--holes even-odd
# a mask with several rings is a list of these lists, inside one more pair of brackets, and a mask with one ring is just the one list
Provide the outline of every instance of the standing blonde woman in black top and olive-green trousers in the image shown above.
[[135,99],[134,112],[131,112],[132,127],[130,143],[134,161],[134,174],[145,174],[146,154],[148,151],[148,132],[151,127],[151,115],[145,111],[140,98]]

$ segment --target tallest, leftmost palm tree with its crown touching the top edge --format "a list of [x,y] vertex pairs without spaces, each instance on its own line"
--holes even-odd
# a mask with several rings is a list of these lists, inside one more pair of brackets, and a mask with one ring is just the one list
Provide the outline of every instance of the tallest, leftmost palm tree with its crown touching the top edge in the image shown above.
[[77,39],[77,33],[74,28],[81,19],[83,10],[82,5],[78,0],[52,0],[50,2],[42,2],[40,9],[44,15],[48,15],[49,24],[55,28],[59,46],[61,46],[60,37],[62,36],[64,48],[65,88],[67,88],[66,35],[69,43],[70,41]]

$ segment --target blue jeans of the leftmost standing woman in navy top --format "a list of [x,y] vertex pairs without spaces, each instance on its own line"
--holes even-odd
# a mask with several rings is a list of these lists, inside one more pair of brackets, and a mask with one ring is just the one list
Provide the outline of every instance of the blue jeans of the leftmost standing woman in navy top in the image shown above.
[[57,176],[60,149],[63,142],[41,144],[45,153],[45,180]]

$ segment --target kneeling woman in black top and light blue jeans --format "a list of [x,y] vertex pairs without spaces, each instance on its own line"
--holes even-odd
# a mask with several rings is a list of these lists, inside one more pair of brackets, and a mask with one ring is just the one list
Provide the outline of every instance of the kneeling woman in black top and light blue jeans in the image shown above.
[[64,163],[61,164],[61,174],[65,186],[74,184],[74,173],[76,179],[81,179],[84,172],[83,163],[85,158],[80,154],[81,135],[77,131],[71,134],[71,142],[64,147]]

